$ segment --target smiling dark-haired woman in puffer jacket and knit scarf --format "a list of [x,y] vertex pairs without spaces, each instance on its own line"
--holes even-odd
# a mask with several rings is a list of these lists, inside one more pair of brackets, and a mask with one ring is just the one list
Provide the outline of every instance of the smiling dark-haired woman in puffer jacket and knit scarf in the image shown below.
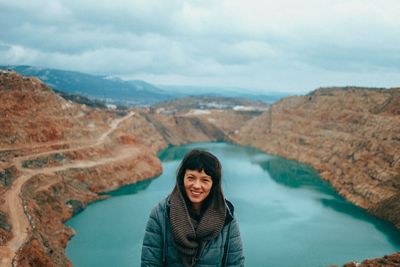
[[190,151],[173,191],[151,211],[141,266],[244,266],[233,210],[222,193],[219,160]]

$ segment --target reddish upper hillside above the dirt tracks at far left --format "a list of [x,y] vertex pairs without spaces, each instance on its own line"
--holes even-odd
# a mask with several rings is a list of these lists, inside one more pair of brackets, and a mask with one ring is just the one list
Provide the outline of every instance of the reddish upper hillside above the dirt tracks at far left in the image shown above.
[[98,114],[95,109],[74,105],[40,80],[15,73],[1,74],[0,99],[3,148],[94,138],[113,118],[110,112]]

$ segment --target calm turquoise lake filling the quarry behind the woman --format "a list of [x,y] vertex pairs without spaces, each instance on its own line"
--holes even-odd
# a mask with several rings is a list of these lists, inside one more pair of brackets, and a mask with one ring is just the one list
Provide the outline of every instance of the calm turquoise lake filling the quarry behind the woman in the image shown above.
[[400,251],[394,227],[338,196],[309,166],[248,147],[199,143],[164,150],[161,176],[111,192],[69,220],[77,232],[66,249],[73,264],[140,266],[149,213],[172,190],[178,164],[193,148],[221,160],[246,266],[339,265]]

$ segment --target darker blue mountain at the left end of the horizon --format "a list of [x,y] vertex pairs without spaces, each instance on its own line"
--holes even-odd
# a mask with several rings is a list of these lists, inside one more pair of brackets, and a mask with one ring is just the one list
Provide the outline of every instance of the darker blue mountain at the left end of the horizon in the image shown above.
[[50,87],[65,93],[102,99],[116,105],[148,106],[173,98],[166,91],[144,81],[123,81],[115,77],[32,66],[0,68],[37,77]]

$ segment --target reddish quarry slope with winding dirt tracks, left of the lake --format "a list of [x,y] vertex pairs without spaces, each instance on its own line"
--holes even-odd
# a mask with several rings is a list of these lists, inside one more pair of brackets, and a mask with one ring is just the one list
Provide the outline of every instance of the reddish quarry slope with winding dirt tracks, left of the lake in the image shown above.
[[77,105],[34,78],[1,73],[0,97],[0,265],[71,266],[64,221],[98,192],[160,174],[164,144],[120,130],[134,111]]

